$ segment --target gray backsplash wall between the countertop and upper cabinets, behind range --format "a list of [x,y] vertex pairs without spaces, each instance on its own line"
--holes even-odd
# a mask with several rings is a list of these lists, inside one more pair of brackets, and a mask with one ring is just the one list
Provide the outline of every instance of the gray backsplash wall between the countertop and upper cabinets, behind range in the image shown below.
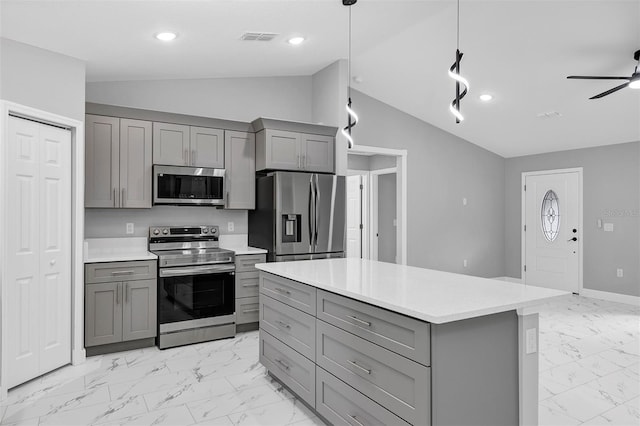
[[[246,234],[246,210],[213,207],[154,206],[151,209],[85,209],[85,238],[147,237],[152,225],[218,225],[221,234]],[[229,232],[227,223],[234,222]],[[126,234],[126,224],[134,234]]]

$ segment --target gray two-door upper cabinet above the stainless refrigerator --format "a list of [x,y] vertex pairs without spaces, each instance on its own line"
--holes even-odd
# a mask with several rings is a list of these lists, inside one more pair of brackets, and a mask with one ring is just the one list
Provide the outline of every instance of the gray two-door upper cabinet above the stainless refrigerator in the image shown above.
[[256,170],[333,173],[335,139],[285,130],[264,129],[256,135]]

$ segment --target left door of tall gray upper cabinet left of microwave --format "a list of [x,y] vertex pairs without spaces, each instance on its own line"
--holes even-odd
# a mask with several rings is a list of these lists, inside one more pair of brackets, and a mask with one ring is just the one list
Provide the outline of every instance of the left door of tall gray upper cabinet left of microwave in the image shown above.
[[85,207],[118,207],[120,119],[85,118]]

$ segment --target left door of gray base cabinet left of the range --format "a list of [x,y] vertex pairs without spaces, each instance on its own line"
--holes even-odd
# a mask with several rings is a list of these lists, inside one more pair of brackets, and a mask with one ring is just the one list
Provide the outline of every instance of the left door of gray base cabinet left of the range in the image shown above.
[[84,345],[122,341],[122,283],[85,286]]

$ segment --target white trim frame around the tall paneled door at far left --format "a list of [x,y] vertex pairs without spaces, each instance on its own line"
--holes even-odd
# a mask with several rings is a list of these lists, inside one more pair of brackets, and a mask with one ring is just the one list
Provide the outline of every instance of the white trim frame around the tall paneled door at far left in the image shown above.
[[[84,349],[84,123],[26,105],[0,100],[0,165],[7,161],[4,148],[8,138],[9,114],[33,118],[71,130],[71,363],[81,364],[86,360]],[[4,167],[0,167],[4,169]],[[4,200],[3,174],[0,173],[0,200]],[[3,209],[0,209],[0,225],[6,226]],[[0,259],[4,259],[4,242],[0,239]],[[7,320],[6,288],[3,286],[4,271],[0,268],[0,400],[7,396],[6,377],[7,336],[3,332]]]

